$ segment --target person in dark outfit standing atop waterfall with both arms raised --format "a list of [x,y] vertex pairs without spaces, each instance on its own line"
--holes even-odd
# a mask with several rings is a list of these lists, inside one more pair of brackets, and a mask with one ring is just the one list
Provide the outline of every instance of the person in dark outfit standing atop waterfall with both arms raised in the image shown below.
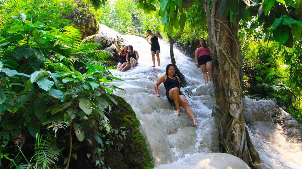
[[[152,62],[153,62],[153,66],[151,66],[151,67],[155,67],[155,54],[156,54],[157,63],[159,66],[160,47],[159,47],[159,43],[158,43],[158,38],[163,39],[163,37],[159,34],[158,31],[156,31],[156,33],[153,34],[150,29],[147,30],[147,34],[148,35],[145,37],[145,39],[151,45],[151,56],[152,56]],[[150,38],[151,42],[149,42],[148,36],[151,36],[151,38]]]

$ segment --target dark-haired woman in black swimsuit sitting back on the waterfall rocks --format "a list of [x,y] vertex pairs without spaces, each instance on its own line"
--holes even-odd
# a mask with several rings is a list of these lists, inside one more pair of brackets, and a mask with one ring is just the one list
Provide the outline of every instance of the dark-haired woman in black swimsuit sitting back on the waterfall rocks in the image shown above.
[[182,94],[180,91],[180,79],[179,77],[175,77],[175,66],[172,64],[167,65],[166,67],[166,74],[159,77],[158,81],[154,85],[154,89],[156,92],[156,97],[161,97],[158,86],[161,83],[164,83],[166,89],[166,96],[170,103],[175,103],[176,106],[176,115],[179,116],[180,114],[180,105],[185,108],[186,114],[191,118],[193,121],[193,125],[198,125],[192,109],[190,108],[188,101],[185,95]]

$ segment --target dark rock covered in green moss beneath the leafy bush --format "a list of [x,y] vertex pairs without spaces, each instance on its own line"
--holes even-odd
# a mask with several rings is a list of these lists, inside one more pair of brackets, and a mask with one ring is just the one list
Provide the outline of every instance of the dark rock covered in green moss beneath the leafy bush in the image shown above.
[[136,118],[131,106],[121,97],[112,95],[118,105],[112,108],[112,112],[106,116],[110,120],[112,129],[120,127],[126,131],[126,139],[123,140],[120,151],[110,148],[104,152],[105,166],[112,169],[127,168],[154,168],[154,160],[148,144],[140,132],[140,122]]

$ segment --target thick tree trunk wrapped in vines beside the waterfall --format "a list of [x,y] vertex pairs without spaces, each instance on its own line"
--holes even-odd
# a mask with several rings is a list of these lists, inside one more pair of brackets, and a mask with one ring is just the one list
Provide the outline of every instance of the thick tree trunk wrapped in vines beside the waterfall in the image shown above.
[[216,105],[212,110],[219,128],[221,152],[238,156],[248,165],[244,108],[239,79],[238,22],[230,23],[229,16],[219,16],[221,0],[212,1],[211,29],[216,54],[214,55],[214,83]]

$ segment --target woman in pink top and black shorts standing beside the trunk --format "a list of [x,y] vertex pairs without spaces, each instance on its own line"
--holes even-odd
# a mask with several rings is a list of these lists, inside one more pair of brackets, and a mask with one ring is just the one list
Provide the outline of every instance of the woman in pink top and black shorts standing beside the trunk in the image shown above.
[[212,50],[207,46],[204,38],[199,39],[199,48],[195,50],[195,63],[199,66],[204,74],[204,81],[208,83],[208,74],[211,82],[213,82],[212,74]]

